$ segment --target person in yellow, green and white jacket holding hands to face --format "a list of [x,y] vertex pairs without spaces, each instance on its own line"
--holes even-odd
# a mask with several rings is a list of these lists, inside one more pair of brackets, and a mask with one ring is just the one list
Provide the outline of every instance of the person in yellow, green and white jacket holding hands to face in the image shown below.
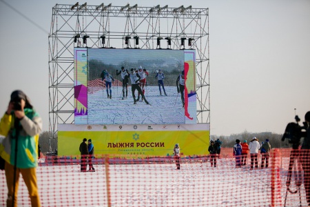
[[0,156],[5,160],[7,206],[17,206],[19,174],[28,188],[31,206],[41,206],[36,174],[41,130],[41,118],[29,98],[21,90],[13,91],[0,122],[0,134],[6,137],[0,144]]

